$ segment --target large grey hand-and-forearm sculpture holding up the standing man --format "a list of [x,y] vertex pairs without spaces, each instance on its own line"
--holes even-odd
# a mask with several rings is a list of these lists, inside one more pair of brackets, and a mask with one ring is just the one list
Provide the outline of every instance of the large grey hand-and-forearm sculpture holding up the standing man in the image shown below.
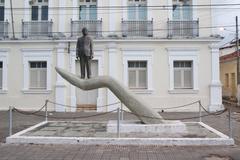
[[98,76],[83,80],[61,68],[56,67],[56,71],[69,83],[83,90],[92,90],[103,87],[109,88],[118,99],[145,124],[163,123],[163,118],[156,111],[152,110],[144,100],[131,93],[117,80],[109,76]]

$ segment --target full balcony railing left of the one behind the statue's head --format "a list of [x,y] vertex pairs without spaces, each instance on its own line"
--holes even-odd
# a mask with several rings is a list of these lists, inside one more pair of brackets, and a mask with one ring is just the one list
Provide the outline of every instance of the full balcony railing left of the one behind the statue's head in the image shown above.
[[28,37],[52,37],[52,21],[22,22],[22,36]]

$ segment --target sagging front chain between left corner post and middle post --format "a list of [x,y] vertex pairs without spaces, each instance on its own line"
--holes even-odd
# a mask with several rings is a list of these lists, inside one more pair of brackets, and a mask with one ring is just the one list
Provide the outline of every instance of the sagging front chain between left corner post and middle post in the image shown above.
[[[13,111],[16,111],[20,114],[23,114],[23,115],[30,115],[30,113],[26,113],[26,111],[22,111],[22,110],[19,110],[17,108],[13,108]],[[50,116],[48,118],[53,118],[53,119],[81,119],[81,118],[91,118],[91,117],[97,117],[97,116],[101,116],[101,115],[106,115],[106,114],[109,114],[109,113],[112,113],[112,112],[115,112],[117,111],[117,109],[115,110],[112,110],[112,111],[109,111],[109,112],[104,112],[104,113],[98,113],[98,114],[94,114],[94,115],[89,115],[89,116],[77,116],[77,117],[56,117],[56,116]],[[38,116],[38,117],[45,117],[45,115],[41,115],[41,114],[37,114],[37,113],[31,113],[31,115],[35,115],[35,116]]]

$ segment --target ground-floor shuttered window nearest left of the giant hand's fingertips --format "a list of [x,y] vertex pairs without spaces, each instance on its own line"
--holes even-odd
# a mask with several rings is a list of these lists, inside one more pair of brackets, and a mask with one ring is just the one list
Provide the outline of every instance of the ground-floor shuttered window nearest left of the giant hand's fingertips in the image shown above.
[[30,89],[46,89],[47,88],[47,62],[29,62],[30,66]]

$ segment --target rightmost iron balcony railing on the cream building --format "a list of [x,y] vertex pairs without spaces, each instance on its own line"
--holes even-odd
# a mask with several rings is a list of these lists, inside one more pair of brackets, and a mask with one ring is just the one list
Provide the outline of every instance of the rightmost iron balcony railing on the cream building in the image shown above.
[[198,37],[199,21],[170,21],[168,20],[168,38],[171,37]]

